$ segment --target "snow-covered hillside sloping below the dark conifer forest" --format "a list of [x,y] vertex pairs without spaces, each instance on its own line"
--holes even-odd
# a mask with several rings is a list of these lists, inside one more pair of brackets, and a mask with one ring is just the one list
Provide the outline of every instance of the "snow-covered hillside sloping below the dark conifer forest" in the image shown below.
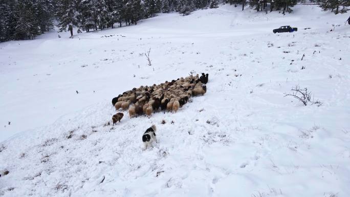
[[[0,196],[349,196],[346,18],[224,5],[0,43]],[[207,93],[178,113],[106,125],[114,96],[191,71]],[[296,85],[323,104],[283,97]]]

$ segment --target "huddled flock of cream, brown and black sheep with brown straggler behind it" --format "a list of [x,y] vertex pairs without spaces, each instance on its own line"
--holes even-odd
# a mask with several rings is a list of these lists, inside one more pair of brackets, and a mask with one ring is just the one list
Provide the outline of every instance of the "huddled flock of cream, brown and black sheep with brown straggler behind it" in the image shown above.
[[[152,113],[177,112],[179,107],[187,103],[191,96],[204,95],[207,91],[206,83],[208,74],[202,73],[188,77],[181,77],[177,80],[165,81],[159,85],[134,87],[133,90],[112,99],[112,104],[118,111],[120,108],[129,111],[130,118],[146,115],[150,117]],[[123,113],[113,115],[113,125],[123,118]]]

